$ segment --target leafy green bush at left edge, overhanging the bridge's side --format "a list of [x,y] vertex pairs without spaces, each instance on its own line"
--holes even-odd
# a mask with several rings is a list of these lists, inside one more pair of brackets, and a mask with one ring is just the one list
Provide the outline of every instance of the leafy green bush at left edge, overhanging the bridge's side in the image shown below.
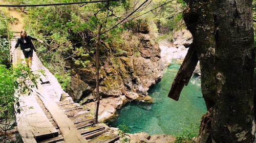
[[[15,113],[20,113],[23,107],[20,106],[20,95],[32,92],[31,88],[36,87],[36,80],[39,75],[33,74],[25,64],[17,65],[15,68],[7,69],[0,65],[0,130],[4,136],[0,142],[10,142],[6,138],[6,131],[15,126]],[[15,96],[14,96],[15,95]],[[3,132],[2,132],[3,133]]]

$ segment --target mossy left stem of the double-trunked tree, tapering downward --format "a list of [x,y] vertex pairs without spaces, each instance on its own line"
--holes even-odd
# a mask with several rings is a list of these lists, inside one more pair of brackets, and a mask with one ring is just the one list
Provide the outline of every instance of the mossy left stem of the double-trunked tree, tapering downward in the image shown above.
[[202,94],[207,109],[215,104],[215,36],[214,15],[211,1],[201,2],[190,0],[184,11],[184,20],[188,30],[193,35],[193,44],[196,47],[201,67]]

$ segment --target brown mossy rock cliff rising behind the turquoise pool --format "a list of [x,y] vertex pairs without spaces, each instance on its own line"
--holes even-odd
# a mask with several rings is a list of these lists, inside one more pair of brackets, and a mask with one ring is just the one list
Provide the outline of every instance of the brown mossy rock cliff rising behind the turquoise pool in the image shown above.
[[[153,102],[147,91],[161,80],[164,65],[159,45],[152,39],[150,34],[133,33],[127,41],[137,41],[137,46],[127,46],[129,48],[118,55],[105,50],[108,48],[104,47],[108,45],[102,44],[99,71],[100,120],[113,117],[116,109],[125,102]],[[95,85],[95,62],[91,62],[86,68],[75,69],[68,93],[74,101],[94,107],[95,102],[91,101],[95,99]]]

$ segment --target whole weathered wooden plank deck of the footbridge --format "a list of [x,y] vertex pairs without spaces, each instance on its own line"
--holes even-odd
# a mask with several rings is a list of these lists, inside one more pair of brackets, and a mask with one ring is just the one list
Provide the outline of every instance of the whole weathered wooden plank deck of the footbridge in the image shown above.
[[[15,43],[12,40],[12,49]],[[16,49],[13,64],[19,64],[23,58],[22,51]],[[119,139],[117,135],[104,137],[106,129],[95,125],[89,109],[83,109],[61,89],[36,54],[33,55],[32,70],[34,74],[44,70],[46,76],[40,74],[42,82],[37,81],[38,88],[34,88],[30,96],[20,96],[24,110],[16,115],[16,122],[23,142],[114,142]],[[101,140],[97,138],[100,136],[103,136]]]

